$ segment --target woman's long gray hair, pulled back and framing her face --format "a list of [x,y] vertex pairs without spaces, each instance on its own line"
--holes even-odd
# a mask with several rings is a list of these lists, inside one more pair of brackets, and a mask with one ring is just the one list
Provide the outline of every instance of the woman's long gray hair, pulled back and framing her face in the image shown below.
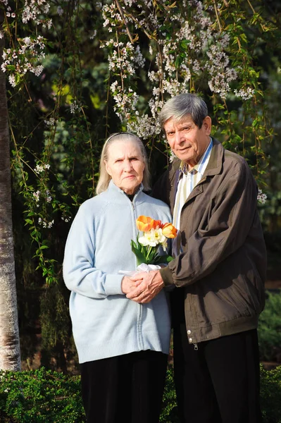
[[142,143],[142,140],[137,137],[137,135],[123,132],[115,133],[110,135],[106,142],[104,142],[104,147],[101,151],[101,161],[99,163],[99,180],[96,185],[96,194],[101,194],[108,188],[108,184],[111,181],[111,176],[108,175],[106,171],[105,161],[108,161],[108,149],[113,144],[113,142],[125,141],[125,142],[135,142],[138,145],[140,152],[142,154],[142,159],[144,161],[144,178],[142,179],[142,184],[144,185],[144,190],[150,190],[150,173],[149,173],[149,163],[146,155],[146,150]]

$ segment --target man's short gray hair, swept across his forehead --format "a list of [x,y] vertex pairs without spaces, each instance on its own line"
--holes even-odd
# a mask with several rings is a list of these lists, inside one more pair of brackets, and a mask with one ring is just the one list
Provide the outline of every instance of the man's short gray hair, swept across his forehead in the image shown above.
[[164,104],[159,114],[161,128],[173,118],[174,121],[181,121],[185,116],[190,115],[195,125],[200,129],[204,118],[208,116],[208,108],[203,99],[196,94],[179,94]]

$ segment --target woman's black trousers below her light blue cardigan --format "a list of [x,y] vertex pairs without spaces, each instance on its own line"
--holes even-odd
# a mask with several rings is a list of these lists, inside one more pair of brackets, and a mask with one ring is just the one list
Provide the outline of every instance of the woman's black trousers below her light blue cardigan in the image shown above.
[[81,364],[87,423],[158,423],[167,359],[146,350]]

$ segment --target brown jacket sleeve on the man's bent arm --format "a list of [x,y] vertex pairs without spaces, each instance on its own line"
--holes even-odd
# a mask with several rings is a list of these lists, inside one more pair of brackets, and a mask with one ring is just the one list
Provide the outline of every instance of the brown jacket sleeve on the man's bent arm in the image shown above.
[[210,198],[204,229],[195,231],[187,240],[186,251],[161,269],[165,285],[195,283],[238,250],[256,216],[256,197],[257,186],[248,165],[237,161]]

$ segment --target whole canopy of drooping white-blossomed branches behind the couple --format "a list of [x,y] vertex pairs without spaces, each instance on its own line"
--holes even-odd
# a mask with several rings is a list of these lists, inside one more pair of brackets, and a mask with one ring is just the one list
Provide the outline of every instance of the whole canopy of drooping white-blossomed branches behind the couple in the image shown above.
[[173,159],[158,124],[172,95],[204,96],[213,135],[246,157],[262,185],[272,130],[256,56],[277,24],[261,0],[1,0],[0,8],[13,186],[46,286],[61,282],[70,219],[94,195],[108,133],[142,137],[154,176]]

